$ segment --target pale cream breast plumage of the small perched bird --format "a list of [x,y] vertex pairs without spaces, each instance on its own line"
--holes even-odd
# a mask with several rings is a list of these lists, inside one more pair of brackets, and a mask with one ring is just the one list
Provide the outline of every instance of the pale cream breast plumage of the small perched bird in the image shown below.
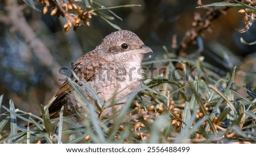
[[113,97],[117,100],[136,91],[141,87],[143,78],[143,69],[140,65],[104,64],[96,73],[96,81],[93,84],[103,101]]

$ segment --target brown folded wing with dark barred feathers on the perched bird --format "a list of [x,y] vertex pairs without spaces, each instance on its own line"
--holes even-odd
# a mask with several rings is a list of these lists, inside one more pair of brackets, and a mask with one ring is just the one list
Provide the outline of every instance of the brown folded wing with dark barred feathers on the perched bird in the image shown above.
[[[83,82],[92,81],[96,77],[96,67],[98,67],[98,64],[92,62],[92,58],[90,58],[91,53],[93,53],[93,51],[84,55],[78,59],[75,64],[73,64],[73,71]],[[79,81],[77,81],[73,76],[71,76],[71,79],[77,84],[81,85],[81,83],[79,83]],[[68,81],[65,81],[60,86],[59,91],[55,95],[55,100],[48,107],[49,116],[51,118],[54,118],[55,114],[59,113],[61,107],[65,104],[67,94],[71,93],[72,91],[73,88]]]

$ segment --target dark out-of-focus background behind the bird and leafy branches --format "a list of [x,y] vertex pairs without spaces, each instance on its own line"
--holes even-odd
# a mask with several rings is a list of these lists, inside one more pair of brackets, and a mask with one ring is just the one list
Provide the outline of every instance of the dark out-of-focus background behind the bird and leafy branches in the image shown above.
[[[38,10],[43,9],[38,1],[34,2]],[[141,5],[112,9],[122,20],[115,18],[111,22],[121,29],[136,33],[154,51],[151,60],[162,56],[165,52],[163,46],[173,52],[173,36],[176,35],[179,45],[185,33],[192,28],[195,14],[202,17],[209,11],[196,8],[197,0],[94,2],[106,7]],[[213,2],[216,1],[202,1],[203,4]],[[221,77],[232,70],[234,65],[241,66],[255,59],[255,46],[246,46],[240,42],[240,37],[247,42],[256,40],[255,24],[249,31],[239,33],[237,29],[245,27],[245,24],[244,15],[237,11],[237,8],[229,8],[226,15],[220,15],[211,23],[211,29],[202,33],[204,46],[199,54],[196,53],[196,45],[186,50],[188,58],[193,57],[193,53],[196,53],[196,57],[203,55],[204,61],[220,68]],[[102,12],[112,15],[106,10]],[[59,75],[59,68],[69,67],[71,62],[99,45],[102,38],[117,31],[94,15],[89,20],[90,26],[82,25],[76,31],[70,29],[65,33],[63,25],[66,22],[61,16],[51,16],[49,11],[43,15],[42,11],[34,10],[22,0],[0,0],[0,94],[4,94],[3,105],[8,106],[12,99],[17,108],[40,115],[40,104],[46,105],[59,89],[61,83],[57,78],[63,78]],[[222,51],[229,53],[231,64],[223,64],[218,58],[218,53]]]

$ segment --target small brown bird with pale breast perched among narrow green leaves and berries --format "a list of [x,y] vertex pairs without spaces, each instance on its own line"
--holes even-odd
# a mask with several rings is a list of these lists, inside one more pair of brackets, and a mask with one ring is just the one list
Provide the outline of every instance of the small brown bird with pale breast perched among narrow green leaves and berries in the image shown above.
[[[95,98],[82,83],[89,86],[100,98],[100,110],[96,114],[102,117],[112,115],[113,98],[119,99],[141,87],[144,78],[141,63],[143,55],[152,53],[152,50],[144,45],[143,41],[133,32],[119,30],[106,36],[100,45],[89,53],[83,55],[73,63],[72,70],[79,80],[70,78],[78,85],[86,98],[96,107]],[[125,102],[124,99],[120,102]],[[72,115],[77,112],[82,117],[88,117],[81,101],[77,100],[75,90],[69,81],[65,81],[55,95],[55,100],[48,106],[50,118],[55,118],[64,106],[64,115]],[[114,110],[121,110],[123,104],[115,104]],[[72,117],[73,121],[80,123],[82,118]]]

